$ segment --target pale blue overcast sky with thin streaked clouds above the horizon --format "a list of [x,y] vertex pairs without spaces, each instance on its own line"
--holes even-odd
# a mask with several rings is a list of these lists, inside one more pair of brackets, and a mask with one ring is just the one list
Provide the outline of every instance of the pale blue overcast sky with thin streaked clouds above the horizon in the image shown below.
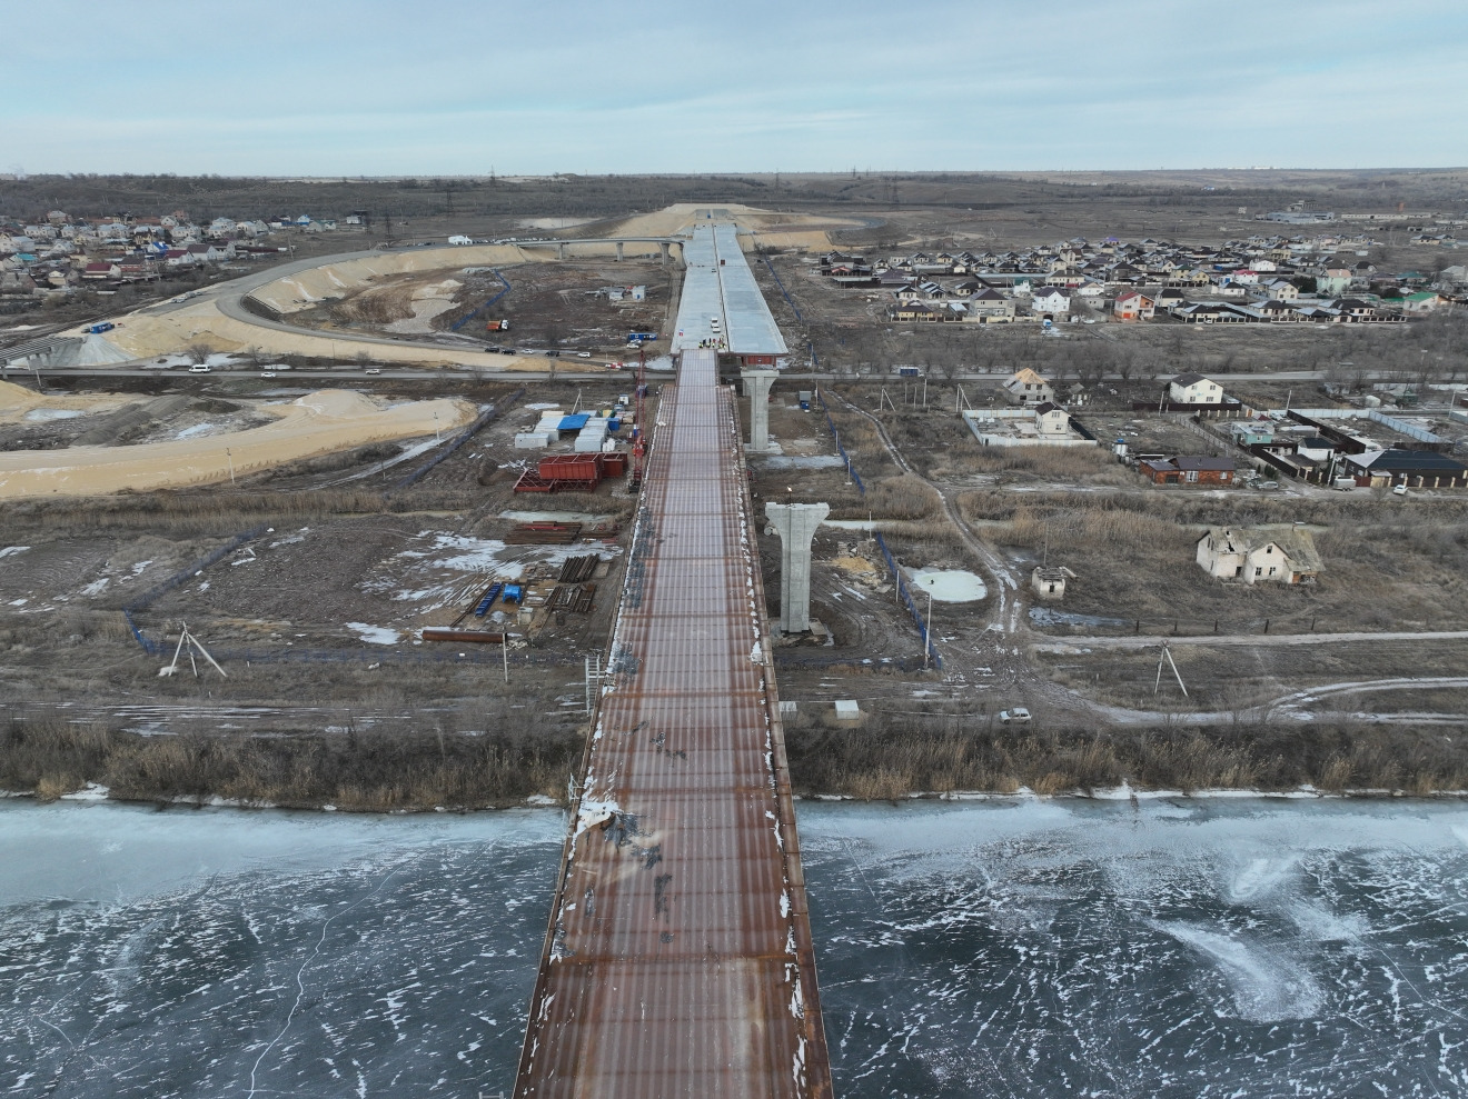
[[1468,1],[0,6],[0,170],[1468,164]]

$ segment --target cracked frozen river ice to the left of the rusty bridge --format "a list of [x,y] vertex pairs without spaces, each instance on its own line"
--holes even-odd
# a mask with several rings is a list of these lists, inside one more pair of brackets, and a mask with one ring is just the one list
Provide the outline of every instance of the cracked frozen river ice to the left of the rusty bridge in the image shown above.
[[562,829],[0,804],[0,1095],[508,1089]]

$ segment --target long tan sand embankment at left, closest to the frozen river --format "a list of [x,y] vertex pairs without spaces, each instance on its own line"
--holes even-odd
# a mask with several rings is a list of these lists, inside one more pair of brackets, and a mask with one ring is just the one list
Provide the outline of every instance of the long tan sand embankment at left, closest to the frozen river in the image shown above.
[[[19,386],[6,386],[0,389],[0,408],[6,411],[7,401],[13,399],[9,390],[37,396]],[[0,499],[214,484],[229,480],[230,467],[239,475],[366,443],[432,434],[435,428],[448,433],[476,415],[465,401],[414,401],[385,408],[361,393],[339,389],[308,393],[289,404],[261,405],[260,411],[273,412],[279,420],[245,431],[166,443],[0,453]]]

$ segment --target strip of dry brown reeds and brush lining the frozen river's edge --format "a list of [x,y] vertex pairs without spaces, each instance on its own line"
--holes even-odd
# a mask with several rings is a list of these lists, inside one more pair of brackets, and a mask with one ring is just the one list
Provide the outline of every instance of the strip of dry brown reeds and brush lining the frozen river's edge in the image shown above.
[[[100,788],[119,801],[366,813],[565,804],[583,744],[575,732],[555,729],[160,737],[12,720],[0,726],[0,791],[53,801]],[[797,716],[787,723],[785,747],[793,789],[806,798],[1119,789],[1433,797],[1468,789],[1468,738],[1442,728],[994,729],[885,715],[850,729]]]

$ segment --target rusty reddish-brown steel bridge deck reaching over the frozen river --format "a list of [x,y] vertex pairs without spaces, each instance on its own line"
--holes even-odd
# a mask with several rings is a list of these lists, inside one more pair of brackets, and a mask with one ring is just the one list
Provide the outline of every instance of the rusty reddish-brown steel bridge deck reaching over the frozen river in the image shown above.
[[734,398],[664,389],[518,1099],[831,1096]]

